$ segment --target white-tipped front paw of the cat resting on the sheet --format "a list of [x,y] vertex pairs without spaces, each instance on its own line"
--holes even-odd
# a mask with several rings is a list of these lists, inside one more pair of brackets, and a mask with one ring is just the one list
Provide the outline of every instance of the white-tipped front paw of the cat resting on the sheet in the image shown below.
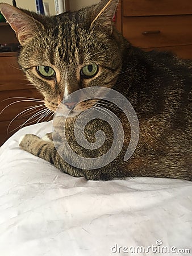
[[40,138],[34,134],[26,134],[20,137],[19,147],[23,150],[31,152],[32,147],[35,147],[35,144],[39,142]]

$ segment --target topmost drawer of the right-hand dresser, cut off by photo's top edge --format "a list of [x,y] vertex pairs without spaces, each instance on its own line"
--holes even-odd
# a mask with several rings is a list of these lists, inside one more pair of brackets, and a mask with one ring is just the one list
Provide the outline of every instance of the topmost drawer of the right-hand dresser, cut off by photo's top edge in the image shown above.
[[123,0],[123,16],[191,14],[191,0]]

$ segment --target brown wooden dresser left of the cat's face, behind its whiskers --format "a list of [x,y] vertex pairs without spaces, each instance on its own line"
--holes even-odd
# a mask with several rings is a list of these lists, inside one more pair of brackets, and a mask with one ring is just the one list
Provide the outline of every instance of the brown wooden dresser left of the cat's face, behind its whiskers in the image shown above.
[[[0,44],[10,43],[18,43],[15,32],[9,24],[0,23]],[[0,52],[0,113],[12,102],[22,100],[22,102],[11,104],[0,114],[0,146],[19,129],[20,125],[32,116],[32,113],[29,113],[28,116],[19,115],[16,117],[16,115],[30,106],[40,104],[39,102],[25,101],[27,100],[25,97],[42,98],[34,86],[24,77],[17,63],[17,55],[17,52]],[[13,97],[14,99],[6,100]],[[9,127],[13,118],[15,119]],[[34,122],[35,118],[26,123],[26,125]],[[8,127],[9,130],[7,131]]]

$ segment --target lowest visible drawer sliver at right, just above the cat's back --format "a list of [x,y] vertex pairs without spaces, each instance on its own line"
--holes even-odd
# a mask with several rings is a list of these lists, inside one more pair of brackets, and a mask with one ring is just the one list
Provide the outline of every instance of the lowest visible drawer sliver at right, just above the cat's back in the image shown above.
[[145,51],[151,51],[156,49],[157,51],[171,51],[176,53],[182,59],[191,59],[192,60],[192,44],[190,46],[168,46],[160,48],[146,48]]

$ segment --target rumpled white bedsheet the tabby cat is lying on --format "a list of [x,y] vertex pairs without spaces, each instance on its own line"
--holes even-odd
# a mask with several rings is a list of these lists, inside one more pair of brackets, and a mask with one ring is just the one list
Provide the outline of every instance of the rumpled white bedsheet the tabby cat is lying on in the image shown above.
[[21,135],[50,131],[51,122],[28,126],[0,148],[1,256],[176,255],[132,253],[157,240],[192,253],[191,182],[86,181],[62,174],[18,147]]

